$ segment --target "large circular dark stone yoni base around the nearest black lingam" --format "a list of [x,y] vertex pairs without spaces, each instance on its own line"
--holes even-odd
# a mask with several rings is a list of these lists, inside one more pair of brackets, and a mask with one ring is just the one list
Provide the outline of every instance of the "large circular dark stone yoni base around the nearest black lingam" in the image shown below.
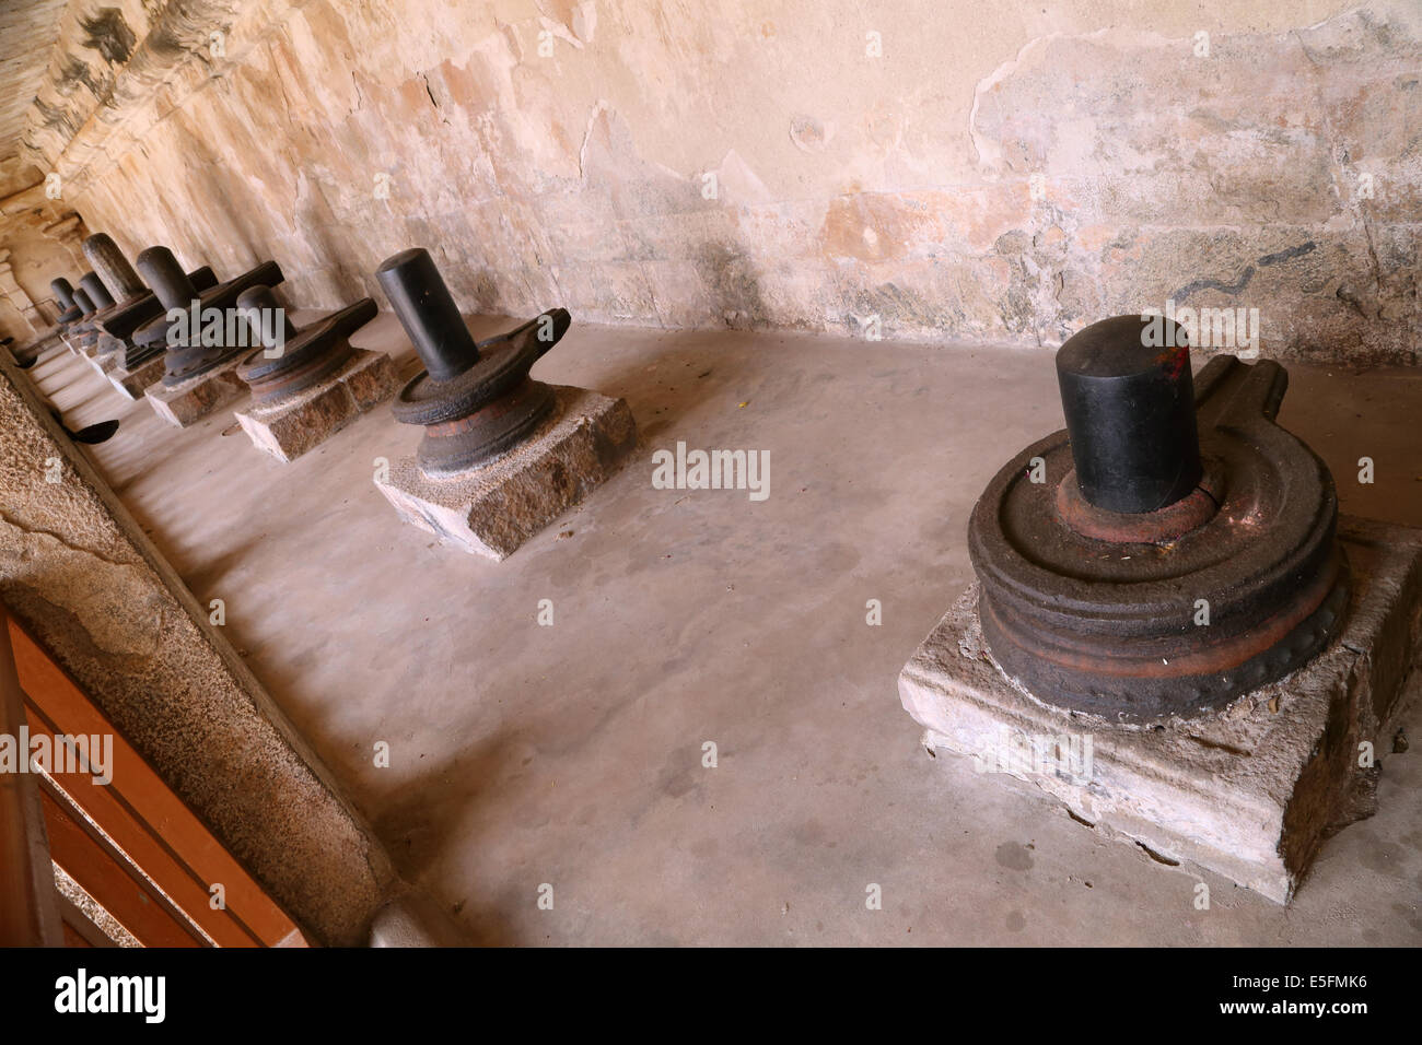
[[1044,704],[1139,722],[1219,709],[1324,648],[1348,569],[1332,476],[1273,421],[1285,378],[1231,357],[1200,371],[1203,476],[1155,512],[1088,503],[1066,431],[997,473],[968,553],[1011,678]]

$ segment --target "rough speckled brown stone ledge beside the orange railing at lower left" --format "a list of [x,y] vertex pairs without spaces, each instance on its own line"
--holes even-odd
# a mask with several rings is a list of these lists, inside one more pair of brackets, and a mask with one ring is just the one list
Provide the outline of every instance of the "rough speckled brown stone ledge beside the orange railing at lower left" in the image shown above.
[[6,606],[306,931],[364,943],[385,852],[3,358],[0,491]]

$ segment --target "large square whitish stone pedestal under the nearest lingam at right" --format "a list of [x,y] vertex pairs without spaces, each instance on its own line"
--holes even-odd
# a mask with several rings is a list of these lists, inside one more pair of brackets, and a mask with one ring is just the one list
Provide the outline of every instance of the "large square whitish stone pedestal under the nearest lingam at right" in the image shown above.
[[1341,633],[1221,712],[1121,725],[1037,701],[993,660],[975,583],[904,665],[900,700],[930,749],[1030,782],[1165,863],[1288,903],[1322,840],[1372,813],[1372,759],[1392,749],[1419,661],[1422,530],[1345,516],[1340,535],[1352,569]]

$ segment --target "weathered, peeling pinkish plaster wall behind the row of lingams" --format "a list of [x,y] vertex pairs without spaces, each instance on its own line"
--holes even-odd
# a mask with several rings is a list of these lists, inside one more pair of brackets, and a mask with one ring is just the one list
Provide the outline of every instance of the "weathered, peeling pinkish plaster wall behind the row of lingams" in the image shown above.
[[1415,361],[1422,6],[1210,7],[75,0],[26,144],[301,304],[422,243],[479,310],[1051,344],[1172,299]]

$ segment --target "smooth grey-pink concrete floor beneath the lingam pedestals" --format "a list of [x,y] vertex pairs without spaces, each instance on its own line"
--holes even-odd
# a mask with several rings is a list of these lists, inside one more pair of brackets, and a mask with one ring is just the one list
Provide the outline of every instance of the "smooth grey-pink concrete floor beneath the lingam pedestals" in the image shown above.
[[[417,370],[388,314],[356,341]],[[1325,845],[1288,909],[920,746],[897,672],[968,583],[978,492],[1061,427],[1048,351],[574,324],[535,375],[626,397],[641,445],[498,564],[375,491],[375,459],[418,441],[388,409],[280,465],[230,409],[179,431],[68,353],[31,373],[71,427],[122,419],[101,471],[199,601],[226,601],[401,872],[481,941],[1422,943],[1416,709],[1379,815]],[[1291,374],[1280,419],[1344,510],[1422,525],[1422,373]],[[653,489],[651,452],[678,439],[768,449],[769,499]]]

